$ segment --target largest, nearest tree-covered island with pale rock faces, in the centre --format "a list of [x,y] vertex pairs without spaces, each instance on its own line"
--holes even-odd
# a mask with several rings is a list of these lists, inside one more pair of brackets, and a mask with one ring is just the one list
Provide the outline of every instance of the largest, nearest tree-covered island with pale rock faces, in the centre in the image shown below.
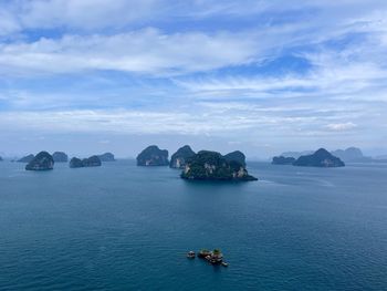
[[189,180],[257,180],[242,164],[217,152],[200,150],[186,162],[181,178]]

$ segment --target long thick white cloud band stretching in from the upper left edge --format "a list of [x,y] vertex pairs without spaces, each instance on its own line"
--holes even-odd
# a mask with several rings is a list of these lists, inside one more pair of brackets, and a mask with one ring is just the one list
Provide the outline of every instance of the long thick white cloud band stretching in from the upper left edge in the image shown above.
[[0,44],[2,74],[116,70],[175,74],[248,63],[257,51],[250,34],[164,34],[156,29],[116,35],[65,35]]

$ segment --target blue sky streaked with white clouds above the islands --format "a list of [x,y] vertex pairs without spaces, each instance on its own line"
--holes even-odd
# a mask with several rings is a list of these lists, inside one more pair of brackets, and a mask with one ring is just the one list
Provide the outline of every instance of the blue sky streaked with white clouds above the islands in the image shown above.
[[0,154],[387,153],[387,1],[0,0]]

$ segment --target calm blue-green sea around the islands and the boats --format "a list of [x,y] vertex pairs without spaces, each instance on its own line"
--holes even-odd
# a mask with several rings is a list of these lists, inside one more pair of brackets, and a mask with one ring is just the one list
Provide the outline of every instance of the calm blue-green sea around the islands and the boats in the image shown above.
[[[249,168],[0,163],[0,290],[387,290],[387,165]],[[229,268],[186,259],[200,248]]]

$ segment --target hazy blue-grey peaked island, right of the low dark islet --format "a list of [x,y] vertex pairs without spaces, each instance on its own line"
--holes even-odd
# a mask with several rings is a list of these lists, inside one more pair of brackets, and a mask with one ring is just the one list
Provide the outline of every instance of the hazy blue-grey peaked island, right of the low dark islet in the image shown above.
[[344,167],[345,164],[338,157],[335,157],[325,148],[320,148],[312,155],[301,156],[294,163],[294,166],[304,167]]

